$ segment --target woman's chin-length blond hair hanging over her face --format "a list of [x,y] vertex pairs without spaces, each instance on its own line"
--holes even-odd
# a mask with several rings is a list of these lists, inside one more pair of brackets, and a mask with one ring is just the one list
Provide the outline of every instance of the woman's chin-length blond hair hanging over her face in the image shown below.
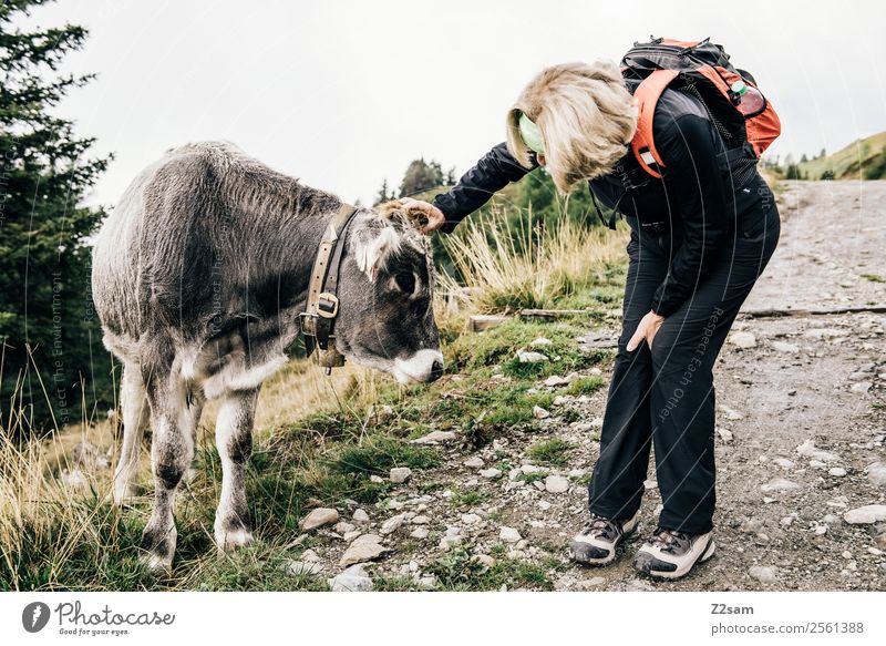
[[521,113],[542,131],[545,167],[562,193],[609,173],[637,130],[633,98],[612,61],[554,65],[524,88],[507,113],[507,150],[528,168]]

